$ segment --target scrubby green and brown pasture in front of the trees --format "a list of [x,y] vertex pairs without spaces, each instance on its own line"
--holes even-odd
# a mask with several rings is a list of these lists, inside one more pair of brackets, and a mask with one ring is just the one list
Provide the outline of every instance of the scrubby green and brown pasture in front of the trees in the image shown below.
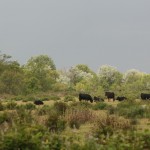
[[[35,105],[39,97],[44,105]],[[0,101],[0,150],[150,149],[150,100],[79,101],[74,94]]]

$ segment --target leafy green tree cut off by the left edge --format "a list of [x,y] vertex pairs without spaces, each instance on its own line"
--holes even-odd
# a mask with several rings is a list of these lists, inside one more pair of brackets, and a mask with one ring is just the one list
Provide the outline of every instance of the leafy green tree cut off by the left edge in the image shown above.
[[0,55],[0,92],[21,94],[24,88],[24,73],[17,61],[10,60],[11,56]]

